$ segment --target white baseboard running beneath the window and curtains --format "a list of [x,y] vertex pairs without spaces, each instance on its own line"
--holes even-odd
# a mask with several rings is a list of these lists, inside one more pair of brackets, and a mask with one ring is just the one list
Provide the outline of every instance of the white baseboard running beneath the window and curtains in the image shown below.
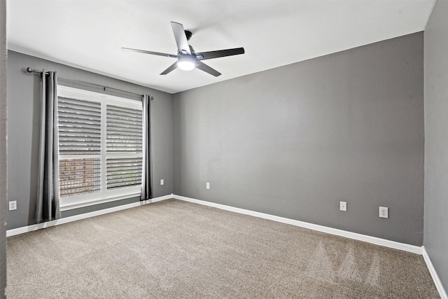
[[103,215],[103,214],[109,214],[114,211],[121,211],[123,209],[140,207],[140,206],[143,206],[144,204],[152,204],[153,202],[160,202],[161,200],[169,200],[170,198],[173,198],[173,197],[174,196],[172,194],[165,195],[165,196],[152,198],[151,200],[143,200],[141,202],[133,202],[132,204],[123,204],[123,205],[117,206],[117,207],[101,209],[98,211],[91,211],[91,212],[85,213],[85,214],[79,214],[79,215],[69,216],[69,217],[65,217],[65,218],[60,218],[60,219],[53,220],[53,221],[37,223],[37,224],[33,224],[33,225],[24,226],[22,228],[13,228],[12,230],[6,230],[6,237],[10,237],[13,235],[19,235],[24,232],[31,232],[33,230],[40,230],[41,228],[49,228],[50,226],[69,223],[69,222],[77,221],[80,219],[90,218],[90,217],[99,216],[99,215]]

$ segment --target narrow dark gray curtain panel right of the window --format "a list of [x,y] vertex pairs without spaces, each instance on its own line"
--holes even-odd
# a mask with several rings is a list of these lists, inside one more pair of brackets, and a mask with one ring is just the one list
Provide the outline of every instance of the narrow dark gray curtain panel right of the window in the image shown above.
[[143,96],[143,126],[144,126],[144,136],[146,137],[146,142],[144,145],[144,174],[141,181],[141,197],[140,200],[149,200],[153,198],[153,186],[152,186],[152,172],[153,165],[151,163],[151,130],[149,116],[151,116],[151,97],[149,95]]

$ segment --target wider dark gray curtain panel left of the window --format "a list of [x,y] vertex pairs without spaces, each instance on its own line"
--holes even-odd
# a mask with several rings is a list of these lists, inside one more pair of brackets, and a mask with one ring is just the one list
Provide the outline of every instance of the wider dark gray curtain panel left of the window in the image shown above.
[[38,161],[36,222],[61,218],[59,209],[59,138],[57,132],[57,76],[42,71],[41,137]]

